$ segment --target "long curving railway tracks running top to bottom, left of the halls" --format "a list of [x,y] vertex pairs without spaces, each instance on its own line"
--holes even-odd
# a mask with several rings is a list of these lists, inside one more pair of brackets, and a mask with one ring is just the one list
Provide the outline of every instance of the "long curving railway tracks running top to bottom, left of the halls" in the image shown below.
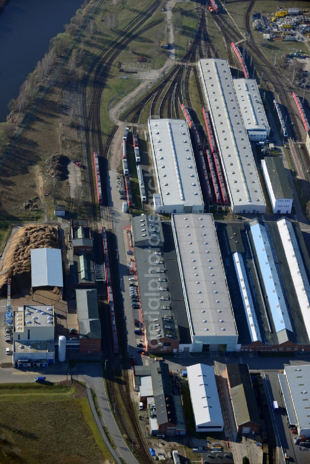
[[[102,137],[101,137],[101,122],[100,122],[100,100],[103,88],[106,83],[106,78],[108,76],[109,70],[119,54],[120,51],[124,50],[125,46],[128,43],[137,37],[139,33],[143,33],[146,30],[150,29],[151,27],[159,24],[161,21],[156,21],[154,23],[150,23],[149,25],[142,28],[145,22],[151,18],[152,14],[156,11],[159,6],[159,1],[156,1],[151,6],[149,6],[144,12],[141,12],[133,21],[130,26],[127,26],[125,30],[119,35],[117,39],[115,39],[106,49],[99,55],[96,60],[94,60],[89,73],[86,76],[83,90],[82,90],[82,101],[83,101],[83,114],[85,119],[85,130],[86,130],[86,155],[87,155],[87,165],[89,170],[89,189],[91,192],[91,209],[92,209],[92,222],[94,225],[94,229],[99,229],[99,223],[101,225],[101,219],[104,216],[105,219],[105,226],[108,229],[112,229],[112,212],[109,207],[108,201],[108,192],[106,188],[102,189],[104,205],[106,207],[100,207],[100,214],[98,208],[95,204],[95,186],[92,178],[92,151],[97,151],[100,155],[99,157],[99,166],[100,166],[100,173],[102,179],[102,186],[107,185],[106,179],[106,172],[107,172],[107,156],[109,152],[109,147],[112,142],[113,136],[118,128],[118,126],[113,126],[112,130],[110,131],[106,144],[103,146]],[[92,81],[92,98],[89,106],[89,111],[87,112],[87,103],[86,103],[86,89],[87,85],[90,83],[90,78],[94,73],[93,81]],[[116,240],[114,234],[111,232],[107,232],[109,234],[108,240],[108,249],[109,255],[112,258],[112,287],[114,289],[119,287],[119,270],[118,270],[118,261],[115,257],[115,250],[117,248]],[[96,257],[102,256],[102,245],[100,247],[100,243],[96,246]],[[123,308],[123,302],[119,292],[113,292],[114,300],[115,300],[115,307]],[[99,300],[99,305],[103,309],[105,308],[105,303],[102,300]],[[114,402],[115,404],[115,414],[117,419],[119,420],[119,424],[121,429],[125,432],[128,437],[128,442],[132,447],[134,446],[134,450],[136,451],[138,458],[143,463],[152,463],[152,459],[148,452],[148,449],[145,445],[143,435],[139,429],[139,425],[136,422],[136,417],[133,411],[133,406],[130,398],[130,389],[129,389],[129,379],[127,371],[125,370],[125,389],[122,386],[123,381],[121,380],[120,373],[120,358],[123,359],[124,365],[128,365],[127,359],[127,349],[126,349],[126,341],[125,337],[119,337],[119,355],[115,355],[112,349],[112,340],[111,335],[106,333],[106,327],[110,327],[110,320],[109,320],[109,311],[103,310],[102,313],[102,329],[103,333],[106,334],[104,337],[104,348],[105,354],[107,359],[109,360],[107,370],[106,370],[106,378],[107,378],[107,389],[108,394],[110,397],[111,403]],[[123,311],[116,312],[116,324],[119,330],[119,333],[125,333],[125,323],[123,317]],[[125,411],[128,414],[129,421],[124,418],[124,413],[121,410],[119,405],[120,398],[124,403]],[[117,407],[116,407],[117,405]]]

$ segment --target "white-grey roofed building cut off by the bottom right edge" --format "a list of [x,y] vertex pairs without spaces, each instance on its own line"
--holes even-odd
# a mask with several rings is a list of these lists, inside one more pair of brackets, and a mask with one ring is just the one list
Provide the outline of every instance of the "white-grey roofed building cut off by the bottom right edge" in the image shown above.
[[310,365],[285,366],[278,374],[290,426],[298,437],[310,438]]

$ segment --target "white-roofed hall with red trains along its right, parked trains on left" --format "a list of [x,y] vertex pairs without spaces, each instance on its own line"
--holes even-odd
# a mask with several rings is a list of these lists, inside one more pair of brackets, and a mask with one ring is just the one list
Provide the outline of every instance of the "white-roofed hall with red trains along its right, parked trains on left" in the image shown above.
[[204,211],[191,139],[185,119],[149,119],[158,193],[156,213]]

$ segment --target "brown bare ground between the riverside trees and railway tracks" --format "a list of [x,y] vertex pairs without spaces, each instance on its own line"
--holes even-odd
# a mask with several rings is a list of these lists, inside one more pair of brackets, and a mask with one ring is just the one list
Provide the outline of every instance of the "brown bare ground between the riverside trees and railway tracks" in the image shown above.
[[[31,122],[24,130],[11,155],[0,173],[0,216],[2,218],[23,218],[31,212],[29,200],[39,197],[39,209],[53,215],[53,198],[68,197],[69,184],[66,166],[62,173],[55,175],[53,162],[60,155],[69,160],[81,158],[81,144],[77,129],[70,127],[65,104],[62,103],[62,88],[69,76],[59,76],[57,86],[52,85],[39,105]],[[36,166],[40,166],[44,186],[46,208],[42,205],[42,191],[38,192]],[[41,197],[41,199],[40,199]],[[43,202],[44,203],[44,202]]]

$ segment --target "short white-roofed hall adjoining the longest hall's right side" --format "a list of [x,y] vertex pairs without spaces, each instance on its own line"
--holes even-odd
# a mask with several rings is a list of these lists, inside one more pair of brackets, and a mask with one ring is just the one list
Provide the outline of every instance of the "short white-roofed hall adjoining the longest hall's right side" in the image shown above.
[[270,127],[255,79],[232,80],[240,114],[249,140],[263,142]]

